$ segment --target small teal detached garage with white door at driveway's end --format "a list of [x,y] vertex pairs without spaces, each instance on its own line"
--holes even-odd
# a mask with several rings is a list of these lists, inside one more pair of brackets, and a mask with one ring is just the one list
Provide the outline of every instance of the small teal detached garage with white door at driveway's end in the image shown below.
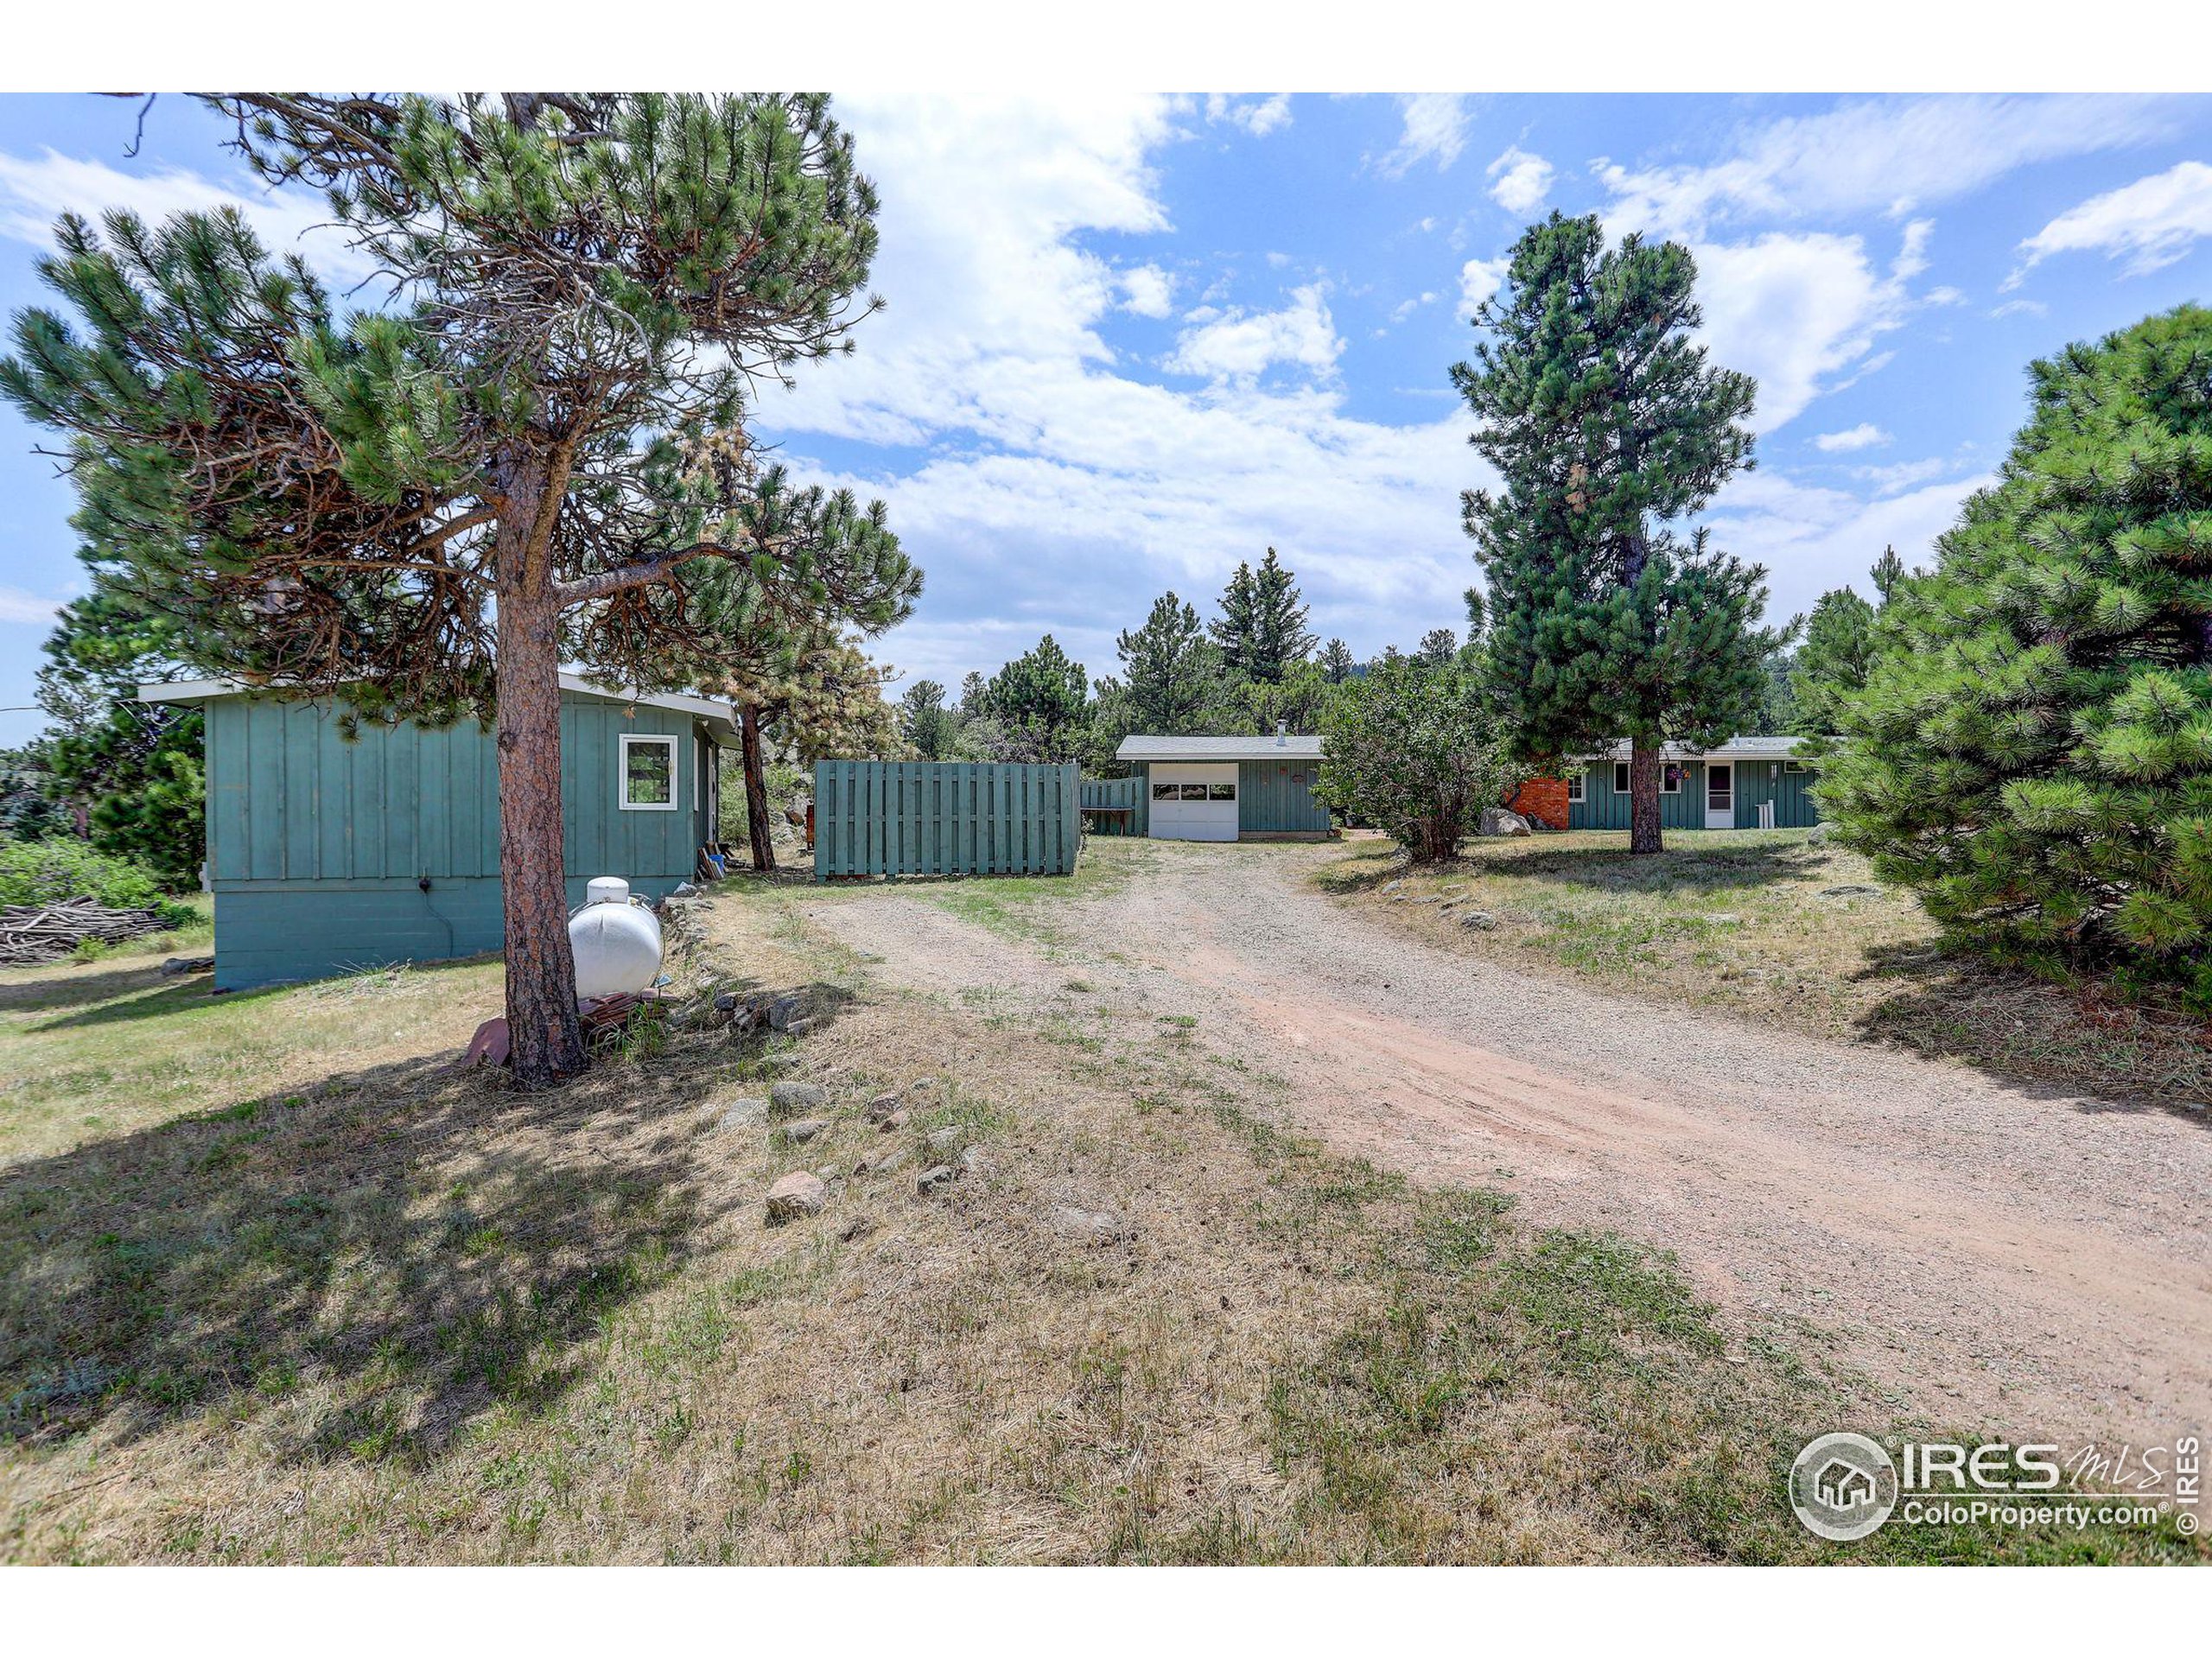
[[1126,737],[1115,750],[1137,779],[1133,830],[1155,841],[1325,841],[1314,801],[1321,739]]

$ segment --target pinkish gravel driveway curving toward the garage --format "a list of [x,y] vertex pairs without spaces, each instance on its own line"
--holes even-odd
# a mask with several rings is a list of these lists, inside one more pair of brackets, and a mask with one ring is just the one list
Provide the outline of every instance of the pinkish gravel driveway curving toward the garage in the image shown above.
[[[1537,1223],[1674,1250],[1896,1409],[2013,1438],[2212,1429],[2212,1126],[1455,956],[1307,885],[1332,847],[1150,843],[1018,945],[914,889],[805,902],[891,982],[1106,1011],[1281,1077],[1303,1128]],[[1077,978],[1091,991],[1068,991]]]

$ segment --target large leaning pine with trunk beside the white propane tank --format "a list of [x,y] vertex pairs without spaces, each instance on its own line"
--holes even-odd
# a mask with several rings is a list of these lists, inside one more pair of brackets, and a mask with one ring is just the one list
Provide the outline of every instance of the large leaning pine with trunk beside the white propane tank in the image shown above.
[[825,97],[223,93],[268,184],[323,190],[387,279],[341,314],[234,212],[42,261],[0,367],[71,436],[84,557],[184,653],[365,717],[495,726],[515,1075],[586,1062],[562,858],[560,668],[668,679],[695,577],[807,588],[772,515],[688,491],[670,434],[743,427],[869,310],[876,197]]

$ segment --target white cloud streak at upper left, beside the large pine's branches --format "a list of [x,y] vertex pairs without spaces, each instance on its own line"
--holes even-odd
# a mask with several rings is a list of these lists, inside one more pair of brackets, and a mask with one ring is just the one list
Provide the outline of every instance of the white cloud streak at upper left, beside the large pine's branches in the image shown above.
[[184,168],[119,173],[51,148],[35,157],[0,153],[0,237],[33,248],[53,246],[53,221],[62,212],[97,226],[104,212],[122,208],[159,223],[173,212],[223,206],[243,212],[272,254],[303,254],[338,281],[361,281],[372,272],[372,263],[345,243],[345,232],[330,223],[330,204],[310,190],[268,190],[243,175],[208,179]]

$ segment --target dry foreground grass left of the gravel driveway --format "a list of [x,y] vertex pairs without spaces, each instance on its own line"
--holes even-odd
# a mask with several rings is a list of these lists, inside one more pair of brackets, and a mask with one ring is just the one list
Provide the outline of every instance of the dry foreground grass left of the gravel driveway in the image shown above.
[[[321,1086],[232,1104],[219,1073],[215,1110],[0,1168],[0,1553],[1823,1559],[1781,1467],[1889,1425],[1663,1259],[1285,1137],[1270,1079],[1086,989],[1022,1020],[876,987],[790,891],[710,925],[752,982],[805,989],[796,1044],[670,1033],[518,1095],[449,1071],[438,1020],[465,1015],[425,1006],[411,1051]],[[356,995],[257,1024],[283,1042]],[[159,1051],[197,1018],[133,1029]],[[825,1084],[832,1128],[721,1128],[768,1075]],[[914,1102],[894,1135],[865,1121],[883,1086]],[[925,1197],[942,1130],[978,1168]],[[763,1225],[801,1161],[838,1177],[827,1210]],[[2190,1553],[1849,1555],[1993,1548]]]

